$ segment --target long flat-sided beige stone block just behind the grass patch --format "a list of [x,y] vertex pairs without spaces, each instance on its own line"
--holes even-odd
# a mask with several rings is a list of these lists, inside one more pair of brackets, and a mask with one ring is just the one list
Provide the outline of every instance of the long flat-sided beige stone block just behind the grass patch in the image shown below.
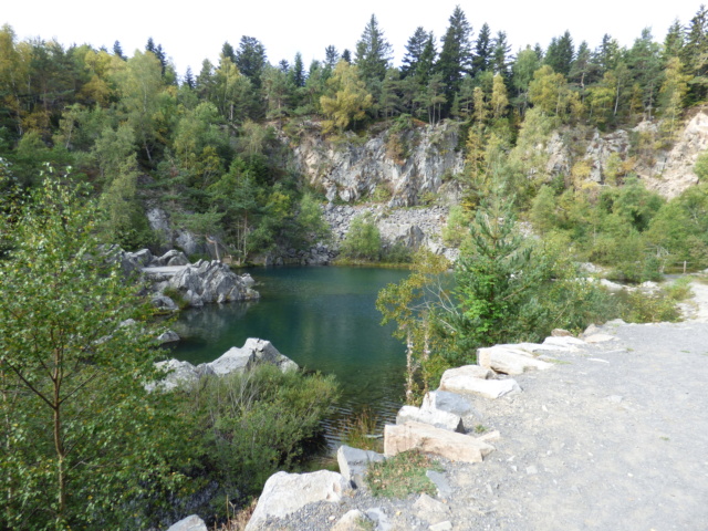
[[481,462],[485,456],[494,450],[494,447],[480,442],[469,435],[448,431],[423,423],[409,421],[400,426],[384,427],[386,457],[413,449],[452,461]]

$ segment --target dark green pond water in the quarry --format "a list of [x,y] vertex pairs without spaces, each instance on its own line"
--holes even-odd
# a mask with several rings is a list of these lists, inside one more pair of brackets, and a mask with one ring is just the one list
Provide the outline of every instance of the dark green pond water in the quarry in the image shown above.
[[[177,331],[187,339],[174,356],[210,362],[248,337],[261,337],[301,367],[336,376],[342,398],[329,424],[364,407],[379,424],[395,418],[403,404],[405,348],[392,337],[392,326],[381,326],[374,303],[382,288],[407,271],[310,267],[250,273],[261,300],[184,312]],[[332,437],[335,429],[330,431]]]

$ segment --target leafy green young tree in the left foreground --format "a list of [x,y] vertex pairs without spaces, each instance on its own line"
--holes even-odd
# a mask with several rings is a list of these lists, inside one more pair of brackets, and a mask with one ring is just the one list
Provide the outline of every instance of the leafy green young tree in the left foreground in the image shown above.
[[133,517],[145,517],[145,492],[178,477],[168,479],[171,427],[158,408],[168,397],[144,388],[156,377],[149,311],[98,244],[95,204],[71,181],[48,176],[30,201],[7,201],[0,525],[142,528]]

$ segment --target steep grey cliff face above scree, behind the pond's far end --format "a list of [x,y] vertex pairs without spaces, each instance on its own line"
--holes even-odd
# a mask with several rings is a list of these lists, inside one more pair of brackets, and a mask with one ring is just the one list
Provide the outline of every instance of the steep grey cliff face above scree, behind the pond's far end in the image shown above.
[[319,135],[306,135],[293,147],[295,164],[311,185],[325,190],[330,201],[356,201],[378,188],[391,195],[392,207],[418,205],[426,192],[441,191],[445,176],[462,171],[462,154],[456,150],[457,124],[405,133],[398,142],[408,146],[408,156],[400,159],[386,137],[383,132],[364,145],[352,142],[337,147]]

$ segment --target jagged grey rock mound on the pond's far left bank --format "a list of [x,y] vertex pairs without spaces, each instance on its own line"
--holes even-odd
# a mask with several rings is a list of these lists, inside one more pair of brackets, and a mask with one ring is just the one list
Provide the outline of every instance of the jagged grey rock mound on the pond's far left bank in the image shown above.
[[210,302],[250,301],[259,298],[243,279],[217,260],[199,260],[185,267],[168,281],[192,306]]

